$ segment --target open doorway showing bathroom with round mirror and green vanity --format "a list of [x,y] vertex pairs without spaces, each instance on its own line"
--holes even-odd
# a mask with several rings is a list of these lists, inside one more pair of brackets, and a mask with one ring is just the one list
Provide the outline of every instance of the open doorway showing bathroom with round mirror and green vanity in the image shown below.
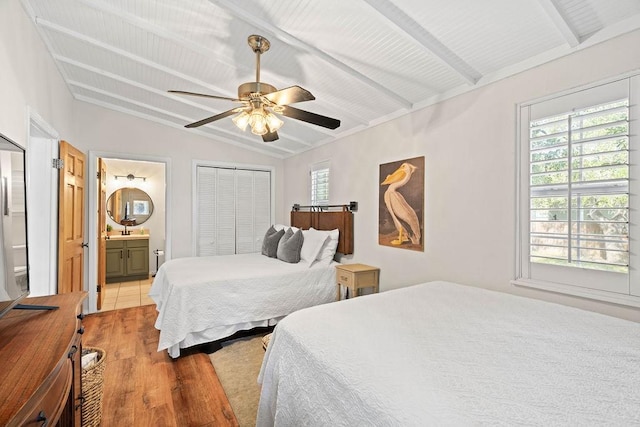
[[[90,188],[89,311],[153,304],[153,277],[168,259],[168,159],[90,153],[97,185]],[[90,171],[91,173],[91,171]],[[93,288],[93,289],[92,289]]]

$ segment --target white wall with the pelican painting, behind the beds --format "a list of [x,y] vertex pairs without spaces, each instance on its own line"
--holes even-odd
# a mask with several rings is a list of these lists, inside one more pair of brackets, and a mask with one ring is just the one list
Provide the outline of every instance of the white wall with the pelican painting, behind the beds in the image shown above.
[[[640,31],[480,87],[285,161],[283,215],[309,201],[308,166],[331,159],[330,202],[359,202],[348,262],[381,290],[429,280],[527,295],[640,321],[640,310],[537,290],[514,278],[516,104],[640,68]],[[425,250],[378,245],[379,165],[425,156]]]

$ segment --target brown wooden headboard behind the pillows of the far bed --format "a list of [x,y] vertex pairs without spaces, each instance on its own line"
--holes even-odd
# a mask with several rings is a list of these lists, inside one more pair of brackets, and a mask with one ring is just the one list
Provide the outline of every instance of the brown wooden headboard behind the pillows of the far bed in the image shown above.
[[302,211],[301,207],[294,207],[291,211],[291,226],[308,230],[340,230],[338,249],[344,255],[353,253],[353,212],[349,205],[342,206],[341,211]]

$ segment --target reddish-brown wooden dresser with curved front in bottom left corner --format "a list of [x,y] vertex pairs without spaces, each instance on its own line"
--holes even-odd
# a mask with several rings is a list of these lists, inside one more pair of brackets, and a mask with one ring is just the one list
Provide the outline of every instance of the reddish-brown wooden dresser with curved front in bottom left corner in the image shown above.
[[0,425],[80,426],[86,292],[27,298],[0,318]]

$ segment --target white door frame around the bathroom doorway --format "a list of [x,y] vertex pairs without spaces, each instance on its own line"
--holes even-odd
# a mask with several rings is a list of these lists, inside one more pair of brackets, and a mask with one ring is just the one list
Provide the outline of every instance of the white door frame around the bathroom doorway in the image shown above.
[[165,261],[171,259],[171,229],[169,224],[171,224],[171,192],[169,189],[171,188],[171,159],[168,157],[156,157],[156,156],[146,156],[143,154],[128,154],[128,153],[113,153],[106,151],[89,151],[89,181],[87,183],[89,187],[89,203],[87,204],[87,223],[88,223],[88,233],[87,241],[89,242],[89,256],[88,258],[88,268],[86,268],[87,274],[85,274],[85,291],[89,293],[89,313],[95,313],[98,310],[98,251],[95,244],[94,237],[98,235],[98,185],[97,180],[94,179],[98,176],[98,158],[107,158],[107,159],[123,159],[123,160],[133,160],[133,161],[146,161],[146,162],[156,162],[156,163],[164,163],[165,165],[165,224],[164,224],[164,235],[165,235]]

